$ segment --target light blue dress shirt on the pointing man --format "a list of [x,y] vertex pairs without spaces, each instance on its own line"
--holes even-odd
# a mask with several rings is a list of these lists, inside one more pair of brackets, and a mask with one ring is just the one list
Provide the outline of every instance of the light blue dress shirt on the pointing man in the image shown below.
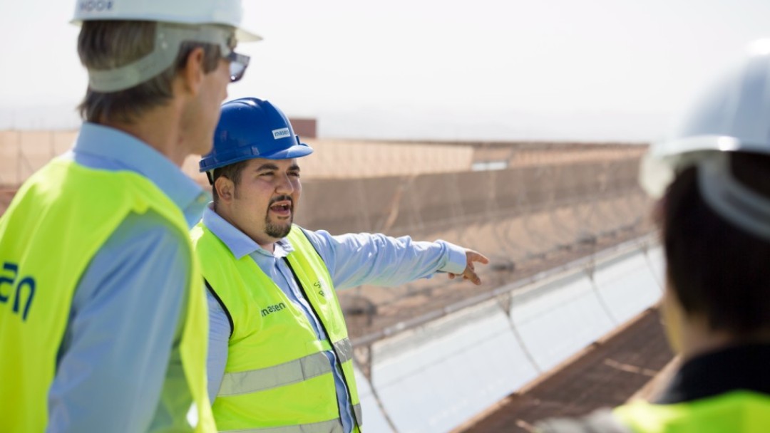
[[[294,304],[302,308],[320,340],[326,339],[319,318],[303,297],[286,262],[294,251],[284,238],[275,245],[273,253],[260,247],[242,231],[213,212],[211,206],[203,212],[203,224],[221,239],[236,259],[245,255],[253,258]],[[358,285],[395,286],[419,278],[430,278],[437,271],[461,274],[467,265],[465,249],[445,241],[418,242],[409,236],[390,238],[369,233],[332,236],[327,231],[306,231],[310,243],[323,258],[336,289]],[[223,258],[225,260],[226,258]],[[216,290],[216,288],[214,288]],[[209,293],[209,398],[214,401],[227,364],[230,325],[219,301]],[[327,351],[333,366],[337,404],[344,431],[353,431],[350,396],[333,351]],[[255,408],[259,410],[259,408]]]

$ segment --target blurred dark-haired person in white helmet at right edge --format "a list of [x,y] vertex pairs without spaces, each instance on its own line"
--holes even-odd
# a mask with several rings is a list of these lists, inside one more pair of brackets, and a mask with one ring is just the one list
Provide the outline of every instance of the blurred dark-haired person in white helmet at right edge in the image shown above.
[[761,433],[770,430],[770,40],[710,89],[641,184],[659,198],[666,258],[662,314],[681,366],[651,403],[542,433]]

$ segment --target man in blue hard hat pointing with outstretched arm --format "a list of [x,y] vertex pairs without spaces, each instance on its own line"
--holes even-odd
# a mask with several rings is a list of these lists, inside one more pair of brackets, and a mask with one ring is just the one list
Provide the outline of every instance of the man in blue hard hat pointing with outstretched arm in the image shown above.
[[200,169],[214,201],[192,230],[209,289],[209,396],[225,431],[345,432],[363,424],[335,290],[400,285],[437,271],[480,284],[484,255],[445,241],[293,225],[300,142],[274,105],[223,105]]

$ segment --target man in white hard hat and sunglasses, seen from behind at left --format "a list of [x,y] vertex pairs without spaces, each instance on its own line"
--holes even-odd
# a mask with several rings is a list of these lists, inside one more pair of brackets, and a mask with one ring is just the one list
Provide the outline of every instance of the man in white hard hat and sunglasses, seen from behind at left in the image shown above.
[[248,57],[240,0],[77,0],[89,73],[71,151],[0,218],[0,431],[214,431],[189,228]]

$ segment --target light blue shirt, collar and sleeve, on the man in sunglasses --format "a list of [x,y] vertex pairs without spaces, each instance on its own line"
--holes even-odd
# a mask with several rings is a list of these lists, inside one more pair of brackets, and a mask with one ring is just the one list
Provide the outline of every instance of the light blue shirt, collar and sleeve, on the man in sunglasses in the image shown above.
[[[209,201],[169,159],[112,128],[85,123],[61,158],[149,178],[190,226]],[[155,212],[131,214],[96,253],[75,288],[49,390],[47,431],[192,430],[179,357],[190,266],[182,242]]]

